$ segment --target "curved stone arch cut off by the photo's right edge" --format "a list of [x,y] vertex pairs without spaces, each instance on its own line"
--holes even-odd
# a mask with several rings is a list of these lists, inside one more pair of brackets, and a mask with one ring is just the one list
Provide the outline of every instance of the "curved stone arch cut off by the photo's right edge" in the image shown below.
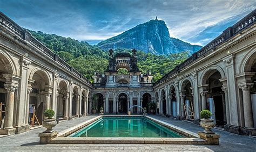
[[241,64],[239,67],[239,73],[250,72],[252,63],[256,59],[256,46],[252,47],[248,52],[244,55],[241,60]]

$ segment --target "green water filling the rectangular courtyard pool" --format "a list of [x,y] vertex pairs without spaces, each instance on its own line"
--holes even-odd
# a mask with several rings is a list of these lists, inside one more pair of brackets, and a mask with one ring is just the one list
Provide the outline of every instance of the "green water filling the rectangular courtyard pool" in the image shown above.
[[103,117],[70,137],[183,137],[144,117]]

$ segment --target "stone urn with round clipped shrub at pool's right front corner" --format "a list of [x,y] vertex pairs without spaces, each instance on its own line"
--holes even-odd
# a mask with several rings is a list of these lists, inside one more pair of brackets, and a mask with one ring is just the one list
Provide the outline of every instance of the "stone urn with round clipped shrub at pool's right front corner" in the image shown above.
[[213,119],[210,119],[212,117],[212,113],[211,111],[208,111],[208,110],[202,110],[200,112],[200,126],[205,128],[205,130],[203,131],[204,133],[207,133],[207,134],[214,134],[214,132],[211,131],[211,129],[213,127],[215,127],[215,123],[213,121]]

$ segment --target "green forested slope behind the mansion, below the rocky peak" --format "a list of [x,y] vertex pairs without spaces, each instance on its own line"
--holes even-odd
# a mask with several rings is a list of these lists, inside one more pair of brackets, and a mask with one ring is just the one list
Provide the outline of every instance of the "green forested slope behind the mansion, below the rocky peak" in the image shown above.
[[[92,82],[95,72],[104,73],[108,65],[109,53],[92,46],[85,41],[78,41],[71,38],[64,38],[55,34],[30,31],[33,37],[42,42],[52,52],[58,54],[70,66],[77,69]],[[117,49],[117,52],[129,52],[128,49]],[[153,82],[156,82],[178,64],[187,59],[188,52],[180,52],[169,55],[154,55],[138,50],[138,68],[142,73],[151,71]]]

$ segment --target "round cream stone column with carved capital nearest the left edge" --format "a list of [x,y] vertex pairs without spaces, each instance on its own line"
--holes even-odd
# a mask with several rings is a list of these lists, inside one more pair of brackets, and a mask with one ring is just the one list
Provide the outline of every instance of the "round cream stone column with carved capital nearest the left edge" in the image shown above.
[[11,128],[14,128],[12,126],[14,121],[14,92],[17,89],[17,87],[5,85],[5,89],[7,90],[7,96],[6,96],[4,129],[11,129]]

